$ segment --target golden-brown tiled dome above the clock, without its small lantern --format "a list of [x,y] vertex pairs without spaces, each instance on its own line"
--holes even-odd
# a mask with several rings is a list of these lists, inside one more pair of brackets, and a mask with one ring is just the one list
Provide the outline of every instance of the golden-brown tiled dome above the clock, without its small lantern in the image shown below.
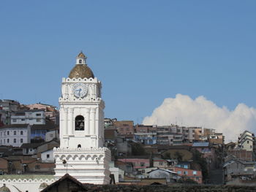
[[89,66],[87,66],[86,64],[83,65],[75,65],[74,68],[71,70],[71,72],[69,73],[69,78],[94,78],[94,73],[91,71],[91,69],[89,68]]

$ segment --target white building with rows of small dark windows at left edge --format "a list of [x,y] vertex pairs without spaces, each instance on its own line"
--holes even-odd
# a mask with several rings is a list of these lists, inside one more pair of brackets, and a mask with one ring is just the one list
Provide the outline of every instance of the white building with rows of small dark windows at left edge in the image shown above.
[[17,124],[0,128],[0,145],[20,147],[30,143],[31,130],[29,124]]

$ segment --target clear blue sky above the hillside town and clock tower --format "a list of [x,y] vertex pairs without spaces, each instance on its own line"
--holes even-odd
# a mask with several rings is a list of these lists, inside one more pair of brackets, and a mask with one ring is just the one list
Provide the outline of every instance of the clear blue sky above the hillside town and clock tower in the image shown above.
[[151,115],[177,93],[256,107],[256,1],[0,1],[0,99],[58,106],[83,50],[105,116]]

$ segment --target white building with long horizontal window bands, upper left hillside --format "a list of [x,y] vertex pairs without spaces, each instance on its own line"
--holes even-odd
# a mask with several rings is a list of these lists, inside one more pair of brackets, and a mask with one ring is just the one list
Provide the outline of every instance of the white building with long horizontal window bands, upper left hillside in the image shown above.
[[29,124],[29,125],[44,125],[45,111],[44,110],[20,110],[11,116],[11,123],[14,124]]

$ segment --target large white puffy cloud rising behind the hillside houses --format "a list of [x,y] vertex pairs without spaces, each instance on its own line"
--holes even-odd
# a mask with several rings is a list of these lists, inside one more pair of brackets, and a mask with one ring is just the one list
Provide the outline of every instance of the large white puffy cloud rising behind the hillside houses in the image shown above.
[[151,116],[143,119],[145,125],[201,126],[214,128],[225,135],[225,142],[236,141],[244,130],[255,132],[256,109],[246,104],[238,104],[235,110],[218,107],[204,96],[195,100],[189,96],[177,94],[176,98],[167,98],[157,107]]

